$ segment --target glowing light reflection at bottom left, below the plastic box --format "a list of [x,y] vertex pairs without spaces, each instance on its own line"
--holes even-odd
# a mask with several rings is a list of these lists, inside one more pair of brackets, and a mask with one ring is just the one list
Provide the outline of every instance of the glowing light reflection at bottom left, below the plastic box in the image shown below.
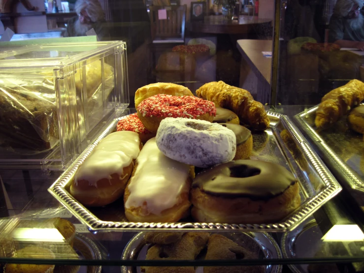
[[16,241],[64,242],[65,238],[57,229],[18,228],[13,233]]

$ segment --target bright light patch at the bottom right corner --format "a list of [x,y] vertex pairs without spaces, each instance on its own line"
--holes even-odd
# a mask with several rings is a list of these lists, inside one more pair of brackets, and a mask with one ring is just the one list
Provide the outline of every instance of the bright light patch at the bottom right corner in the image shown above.
[[323,241],[363,241],[364,233],[358,225],[334,225],[322,238]]

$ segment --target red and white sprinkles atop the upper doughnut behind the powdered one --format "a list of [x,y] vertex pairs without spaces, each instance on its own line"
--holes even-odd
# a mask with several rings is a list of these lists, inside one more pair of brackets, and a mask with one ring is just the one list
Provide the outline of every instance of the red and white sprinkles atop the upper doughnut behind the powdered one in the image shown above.
[[137,107],[143,117],[172,117],[196,119],[200,115],[209,113],[216,115],[216,107],[213,102],[192,96],[171,96],[158,94],[140,102]]

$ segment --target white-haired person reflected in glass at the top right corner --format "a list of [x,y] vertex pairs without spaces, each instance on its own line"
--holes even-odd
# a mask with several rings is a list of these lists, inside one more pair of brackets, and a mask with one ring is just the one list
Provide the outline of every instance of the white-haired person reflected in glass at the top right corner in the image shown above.
[[363,0],[337,0],[330,19],[329,42],[364,51]]

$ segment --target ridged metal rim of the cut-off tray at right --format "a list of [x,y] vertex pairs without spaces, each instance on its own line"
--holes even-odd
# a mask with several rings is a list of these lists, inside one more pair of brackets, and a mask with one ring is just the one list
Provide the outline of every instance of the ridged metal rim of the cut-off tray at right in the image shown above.
[[[295,115],[296,120],[298,121],[300,127],[303,131],[311,138],[314,145],[320,150],[321,153],[324,154],[323,158],[326,159],[325,163],[331,169],[334,169],[341,176],[340,179],[346,181],[349,184],[349,187],[353,190],[358,190],[364,192],[364,183],[358,177],[358,175],[352,171],[344,161],[342,161],[335,152],[326,144],[325,140],[316,133],[315,129],[307,123],[304,118],[307,115],[310,115],[316,112],[319,105],[313,106],[297,115]],[[337,166],[339,168],[337,168]]]

